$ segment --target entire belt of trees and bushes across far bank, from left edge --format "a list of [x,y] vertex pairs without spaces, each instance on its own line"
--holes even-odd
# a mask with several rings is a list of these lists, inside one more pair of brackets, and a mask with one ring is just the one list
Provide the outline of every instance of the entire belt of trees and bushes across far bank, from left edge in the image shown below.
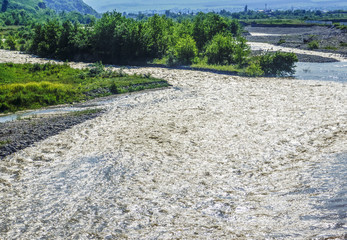
[[[42,5],[41,0],[31,1],[33,5],[38,5],[33,13],[11,10],[0,14],[3,24],[11,25],[2,31],[6,40],[0,43],[0,48],[19,49],[64,61],[191,65],[232,69],[251,76],[293,73],[292,70],[264,69],[265,65],[261,65],[259,59],[265,56],[271,59],[273,56],[251,57],[249,46],[241,36],[242,27],[230,16],[200,12],[174,19],[167,12],[163,16],[135,20],[112,12],[96,19],[75,12],[56,13]],[[12,31],[12,25],[25,27]],[[275,60],[285,59],[294,68],[297,58],[284,53],[279,53],[279,56],[282,58]]]

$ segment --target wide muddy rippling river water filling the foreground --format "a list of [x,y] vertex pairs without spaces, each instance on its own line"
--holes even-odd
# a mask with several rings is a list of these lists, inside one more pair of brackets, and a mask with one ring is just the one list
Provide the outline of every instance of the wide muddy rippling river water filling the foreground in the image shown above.
[[344,239],[347,85],[139,68],[167,89],[0,162],[0,239]]

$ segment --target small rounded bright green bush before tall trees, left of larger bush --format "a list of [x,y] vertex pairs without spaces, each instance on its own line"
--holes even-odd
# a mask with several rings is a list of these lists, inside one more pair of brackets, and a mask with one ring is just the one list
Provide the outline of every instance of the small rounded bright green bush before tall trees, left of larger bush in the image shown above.
[[174,47],[174,54],[179,63],[192,64],[198,54],[195,40],[189,35],[179,38]]

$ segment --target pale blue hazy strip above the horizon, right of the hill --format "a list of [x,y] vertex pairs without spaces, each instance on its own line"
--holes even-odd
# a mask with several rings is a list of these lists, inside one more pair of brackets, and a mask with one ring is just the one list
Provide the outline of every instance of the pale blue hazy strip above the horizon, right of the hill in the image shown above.
[[336,7],[347,9],[346,0],[84,0],[99,12],[117,10],[118,12],[137,12],[144,10],[167,10],[173,8],[195,9],[249,9],[268,8],[321,8]]

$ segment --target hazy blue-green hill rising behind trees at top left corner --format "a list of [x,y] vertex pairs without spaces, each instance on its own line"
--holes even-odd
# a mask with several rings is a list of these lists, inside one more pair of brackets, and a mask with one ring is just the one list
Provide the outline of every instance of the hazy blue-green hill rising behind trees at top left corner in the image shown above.
[[[1,9],[13,10],[23,9],[30,12],[36,12],[39,9],[51,8],[57,12],[76,11],[82,14],[91,14],[100,16],[92,7],[84,3],[82,0],[0,0]],[[3,6],[6,4],[7,6]]]

